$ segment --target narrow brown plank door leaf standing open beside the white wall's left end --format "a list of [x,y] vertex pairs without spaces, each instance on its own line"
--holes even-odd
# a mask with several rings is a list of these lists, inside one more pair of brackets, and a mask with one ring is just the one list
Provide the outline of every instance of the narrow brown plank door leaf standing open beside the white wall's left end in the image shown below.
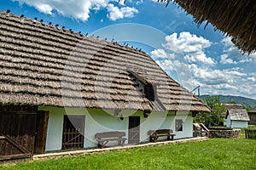
[[35,153],[44,154],[47,136],[49,111],[38,111]]

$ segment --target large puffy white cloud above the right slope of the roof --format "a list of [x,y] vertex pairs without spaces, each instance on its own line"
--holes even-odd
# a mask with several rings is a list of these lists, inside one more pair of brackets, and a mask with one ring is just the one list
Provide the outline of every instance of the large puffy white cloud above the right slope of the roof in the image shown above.
[[177,33],[166,36],[166,44],[163,44],[163,47],[176,54],[183,54],[184,59],[189,63],[200,62],[205,65],[214,65],[215,61],[205,54],[205,48],[209,48],[211,44],[212,42],[204,37],[197,37],[190,32],[181,32],[179,37]]

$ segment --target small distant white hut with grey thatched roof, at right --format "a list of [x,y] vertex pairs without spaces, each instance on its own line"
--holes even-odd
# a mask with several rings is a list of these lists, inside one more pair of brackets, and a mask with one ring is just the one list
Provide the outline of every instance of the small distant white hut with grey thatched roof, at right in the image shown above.
[[227,107],[226,112],[226,126],[227,127],[241,127],[248,126],[250,118],[247,114],[247,110],[242,108],[239,104],[225,104]]

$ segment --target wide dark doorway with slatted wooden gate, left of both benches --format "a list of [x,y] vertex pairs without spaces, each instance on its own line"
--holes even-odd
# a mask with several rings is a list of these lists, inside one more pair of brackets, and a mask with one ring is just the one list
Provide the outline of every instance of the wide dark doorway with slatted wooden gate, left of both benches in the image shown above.
[[62,150],[84,148],[84,116],[64,116]]

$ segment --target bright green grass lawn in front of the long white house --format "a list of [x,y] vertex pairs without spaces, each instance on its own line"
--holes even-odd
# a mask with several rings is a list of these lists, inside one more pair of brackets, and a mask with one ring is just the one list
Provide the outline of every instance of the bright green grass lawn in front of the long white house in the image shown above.
[[18,163],[0,169],[256,169],[256,140],[209,139]]

